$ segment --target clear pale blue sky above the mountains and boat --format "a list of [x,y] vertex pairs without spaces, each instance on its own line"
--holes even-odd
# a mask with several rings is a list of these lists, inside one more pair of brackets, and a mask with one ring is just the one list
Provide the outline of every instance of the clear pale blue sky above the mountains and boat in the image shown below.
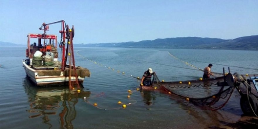
[[0,12],[0,41],[16,44],[60,20],[74,25],[74,43],[258,35],[258,0],[1,0]]

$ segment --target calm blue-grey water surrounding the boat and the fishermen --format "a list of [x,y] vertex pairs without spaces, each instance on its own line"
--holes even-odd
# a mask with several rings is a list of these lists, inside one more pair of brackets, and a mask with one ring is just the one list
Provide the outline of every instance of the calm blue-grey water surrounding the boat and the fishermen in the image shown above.
[[[91,77],[85,79],[84,88],[77,93],[69,91],[68,87],[33,86],[26,78],[21,63],[25,58],[25,49],[0,47],[1,129],[220,127],[241,118],[237,91],[222,109],[202,110],[167,94],[136,91],[140,82],[130,75],[142,77],[143,72],[152,67],[159,79],[166,82],[202,77],[202,72],[191,70],[192,67],[168,52],[202,69],[208,65],[203,62],[257,68],[258,60],[258,51],[77,47],[74,50],[76,65],[91,71]],[[212,71],[222,73],[223,67],[228,69],[227,66],[213,65]],[[230,72],[258,74],[257,70],[237,67],[230,67]],[[133,91],[130,99],[127,98],[129,89]],[[84,100],[84,97],[87,99]],[[123,109],[118,101],[132,105]],[[99,108],[93,103],[97,103]]]

